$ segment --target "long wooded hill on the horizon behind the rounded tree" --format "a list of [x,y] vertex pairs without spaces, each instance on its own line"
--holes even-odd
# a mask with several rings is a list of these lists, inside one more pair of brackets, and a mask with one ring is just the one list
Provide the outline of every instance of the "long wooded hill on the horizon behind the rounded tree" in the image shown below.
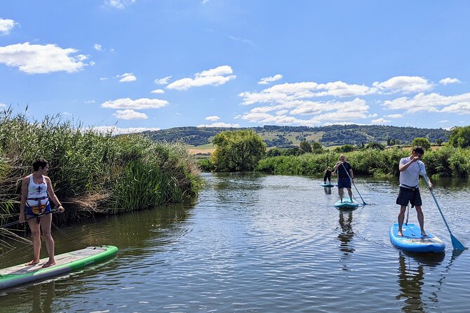
[[378,125],[333,125],[321,127],[308,126],[262,126],[250,128],[224,127],[175,127],[161,131],[145,131],[155,141],[181,141],[187,145],[201,146],[212,142],[217,133],[253,129],[263,138],[268,147],[292,147],[301,141],[320,142],[325,147],[334,145],[361,145],[377,141],[399,140],[401,144],[410,144],[417,137],[428,138],[430,142],[441,139],[448,141],[450,131],[442,128],[415,128]]

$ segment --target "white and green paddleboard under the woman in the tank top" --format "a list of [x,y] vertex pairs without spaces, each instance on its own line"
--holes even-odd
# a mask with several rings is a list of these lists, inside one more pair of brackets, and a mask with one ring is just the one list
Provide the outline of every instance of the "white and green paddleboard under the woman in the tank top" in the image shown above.
[[58,276],[74,269],[93,265],[116,255],[115,246],[87,247],[81,250],[55,255],[55,265],[42,268],[48,258],[41,259],[36,265],[20,264],[6,269],[0,269],[0,289],[39,281],[49,277]]

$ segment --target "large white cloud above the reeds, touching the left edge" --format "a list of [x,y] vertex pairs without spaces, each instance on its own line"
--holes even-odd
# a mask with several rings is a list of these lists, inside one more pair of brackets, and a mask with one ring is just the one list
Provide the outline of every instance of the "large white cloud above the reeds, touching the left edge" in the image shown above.
[[39,45],[14,44],[0,47],[0,63],[9,67],[18,67],[28,74],[43,74],[51,72],[78,72],[86,64],[86,55],[71,56],[76,53],[74,48],[60,48],[53,44]]

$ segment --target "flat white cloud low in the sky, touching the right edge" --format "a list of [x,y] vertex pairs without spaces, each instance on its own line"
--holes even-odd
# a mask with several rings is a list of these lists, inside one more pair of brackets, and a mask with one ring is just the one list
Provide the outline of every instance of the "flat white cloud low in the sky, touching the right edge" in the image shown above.
[[439,95],[418,93],[413,98],[401,97],[384,101],[389,109],[405,109],[406,112],[448,112],[470,114],[470,93],[461,95]]

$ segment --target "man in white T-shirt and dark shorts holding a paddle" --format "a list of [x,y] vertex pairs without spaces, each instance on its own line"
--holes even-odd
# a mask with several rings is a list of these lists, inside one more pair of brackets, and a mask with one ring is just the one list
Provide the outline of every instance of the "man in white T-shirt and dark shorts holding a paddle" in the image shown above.
[[[420,146],[416,146],[412,149],[410,156],[400,160],[400,165],[398,166],[398,170],[400,171],[400,191],[396,198],[396,204],[401,206],[400,213],[398,214],[398,236],[403,236],[401,227],[405,220],[405,211],[408,203],[411,204],[411,207],[414,206],[416,208],[419,227],[421,227],[421,235],[427,236],[426,232],[424,232],[424,215],[421,209],[422,201],[418,186],[419,174],[423,175],[423,177],[427,177],[426,167],[421,161],[423,154],[424,149]],[[432,189],[433,185],[429,178],[428,182],[429,189]]]

